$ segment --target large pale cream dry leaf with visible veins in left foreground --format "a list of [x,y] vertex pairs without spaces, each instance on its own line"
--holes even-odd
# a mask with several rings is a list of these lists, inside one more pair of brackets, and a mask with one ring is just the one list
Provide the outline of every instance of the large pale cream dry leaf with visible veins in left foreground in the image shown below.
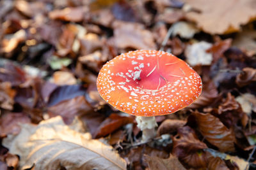
[[22,169],[125,169],[126,163],[111,146],[70,129],[61,117],[22,125],[17,136],[3,141],[20,156]]

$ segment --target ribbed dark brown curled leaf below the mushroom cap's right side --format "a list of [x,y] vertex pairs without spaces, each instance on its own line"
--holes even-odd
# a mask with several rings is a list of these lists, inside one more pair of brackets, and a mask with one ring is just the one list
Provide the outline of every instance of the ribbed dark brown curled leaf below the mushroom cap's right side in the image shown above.
[[225,127],[219,118],[210,113],[193,113],[199,131],[209,143],[217,146],[221,152],[234,152],[236,137],[234,133]]

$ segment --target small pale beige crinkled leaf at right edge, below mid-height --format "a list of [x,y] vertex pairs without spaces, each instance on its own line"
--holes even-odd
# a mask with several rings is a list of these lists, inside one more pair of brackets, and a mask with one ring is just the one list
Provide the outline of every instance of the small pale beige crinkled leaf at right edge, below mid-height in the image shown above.
[[236,101],[241,105],[243,112],[247,115],[251,115],[252,111],[256,112],[256,97],[253,94],[242,94],[236,97]]

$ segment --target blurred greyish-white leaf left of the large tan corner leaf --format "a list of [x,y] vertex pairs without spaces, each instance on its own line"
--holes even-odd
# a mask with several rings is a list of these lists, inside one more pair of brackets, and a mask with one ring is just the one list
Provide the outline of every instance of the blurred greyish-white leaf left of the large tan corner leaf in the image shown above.
[[172,32],[172,36],[179,35],[182,38],[193,38],[196,32],[199,32],[199,30],[195,27],[194,24],[191,24],[189,22],[176,22],[172,25],[170,28],[170,31]]

